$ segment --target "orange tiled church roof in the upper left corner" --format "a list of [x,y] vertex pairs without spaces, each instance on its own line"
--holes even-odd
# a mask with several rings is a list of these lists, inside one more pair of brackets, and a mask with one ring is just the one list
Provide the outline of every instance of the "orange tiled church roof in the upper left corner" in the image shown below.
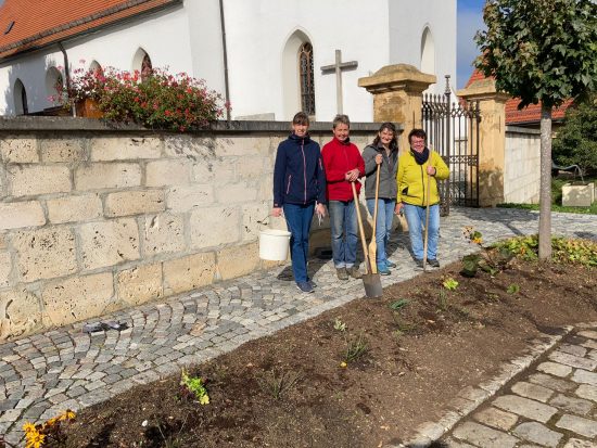
[[5,0],[0,60],[96,30],[181,0]]

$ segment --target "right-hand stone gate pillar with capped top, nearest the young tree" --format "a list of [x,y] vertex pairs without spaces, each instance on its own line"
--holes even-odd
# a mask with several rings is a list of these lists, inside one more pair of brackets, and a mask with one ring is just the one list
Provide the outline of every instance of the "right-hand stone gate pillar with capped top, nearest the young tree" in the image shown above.
[[467,101],[479,101],[479,205],[494,207],[504,202],[504,155],[506,152],[506,101],[494,79],[472,82],[457,92]]

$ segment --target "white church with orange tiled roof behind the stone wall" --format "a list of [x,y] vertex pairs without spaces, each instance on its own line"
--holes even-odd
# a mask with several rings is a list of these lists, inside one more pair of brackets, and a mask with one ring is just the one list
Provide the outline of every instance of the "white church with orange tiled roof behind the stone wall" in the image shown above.
[[162,67],[232,119],[372,121],[358,78],[399,63],[457,85],[456,0],[0,0],[0,115],[51,110],[79,68]]

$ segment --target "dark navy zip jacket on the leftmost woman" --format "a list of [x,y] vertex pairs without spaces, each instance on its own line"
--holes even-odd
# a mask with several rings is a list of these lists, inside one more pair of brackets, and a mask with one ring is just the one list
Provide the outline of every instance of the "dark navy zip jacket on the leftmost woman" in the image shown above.
[[326,204],[326,175],[319,144],[292,133],[278,145],[274,167],[274,206]]

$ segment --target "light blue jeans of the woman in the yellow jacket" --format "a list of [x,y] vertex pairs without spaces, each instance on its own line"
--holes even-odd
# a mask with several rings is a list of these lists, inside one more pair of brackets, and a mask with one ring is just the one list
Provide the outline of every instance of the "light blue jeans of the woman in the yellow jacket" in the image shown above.
[[[410,247],[417,259],[423,259],[423,227],[425,220],[425,207],[404,204],[404,214],[408,222]],[[437,240],[440,239],[440,205],[429,207],[429,231],[427,245],[427,259],[437,258]]]

